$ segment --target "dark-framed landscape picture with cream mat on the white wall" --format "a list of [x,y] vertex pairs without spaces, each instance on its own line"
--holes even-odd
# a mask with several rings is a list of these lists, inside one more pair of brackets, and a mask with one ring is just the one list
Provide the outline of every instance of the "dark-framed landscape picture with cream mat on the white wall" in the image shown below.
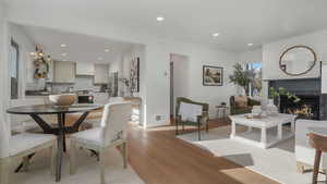
[[222,68],[204,65],[203,66],[203,85],[204,86],[222,86],[223,74]]

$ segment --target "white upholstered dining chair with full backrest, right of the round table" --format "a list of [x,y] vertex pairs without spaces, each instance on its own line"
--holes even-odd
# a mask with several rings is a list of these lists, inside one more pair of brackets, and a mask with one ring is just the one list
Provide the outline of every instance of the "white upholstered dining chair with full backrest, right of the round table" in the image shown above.
[[109,148],[120,146],[123,155],[123,167],[128,165],[126,128],[131,119],[132,105],[116,102],[105,106],[100,127],[82,131],[71,135],[70,172],[74,174],[75,149],[83,147],[95,150],[99,155],[100,181],[105,184],[105,152]]

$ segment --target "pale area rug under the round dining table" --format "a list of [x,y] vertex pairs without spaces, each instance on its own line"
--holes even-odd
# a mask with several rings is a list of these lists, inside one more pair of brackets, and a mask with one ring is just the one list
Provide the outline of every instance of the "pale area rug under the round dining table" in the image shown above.
[[[100,174],[96,157],[90,157],[88,151],[77,151],[77,172],[69,174],[69,160],[65,155],[62,161],[61,182],[56,183],[50,175],[50,159],[48,150],[38,152],[31,162],[28,172],[13,174],[15,184],[99,184]],[[107,184],[144,184],[134,170],[129,165],[123,169],[122,157],[117,149],[110,149],[106,157]]]

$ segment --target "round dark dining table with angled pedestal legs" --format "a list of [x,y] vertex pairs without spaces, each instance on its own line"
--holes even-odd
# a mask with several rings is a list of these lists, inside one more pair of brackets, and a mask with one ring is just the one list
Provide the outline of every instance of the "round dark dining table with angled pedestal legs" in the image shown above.
[[[90,111],[99,110],[104,106],[100,105],[72,105],[72,106],[56,106],[56,105],[37,105],[14,107],[7,110],[11,114],[29,115],[41,128],[45,134],[55,134],[58,139],[57,165],[56,165],[56,182],[61,180],[61,162],[62,155],[65,151],[65,134],[78,132],[83,121]],[[81,116],[73,124],[65,125],[65,114],[81,113]],[[52,122],[46,122],[40,115],[56,114],[58,125],[51,125]]]

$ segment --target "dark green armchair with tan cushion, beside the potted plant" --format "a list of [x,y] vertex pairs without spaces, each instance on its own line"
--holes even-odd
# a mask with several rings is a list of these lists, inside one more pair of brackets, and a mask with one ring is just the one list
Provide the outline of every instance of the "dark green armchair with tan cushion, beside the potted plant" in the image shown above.
[[[234,96],[231,96],[229,99],[230,102],[230,114],[243,114],[243,113],[251,113],[253,106],[259,106],[261,102],[254,99],[251,99],[246,96],[242,96],[242,98],[246,98],[245,106],[238,103]],[[244,102],[244,101],[243,101]]]

